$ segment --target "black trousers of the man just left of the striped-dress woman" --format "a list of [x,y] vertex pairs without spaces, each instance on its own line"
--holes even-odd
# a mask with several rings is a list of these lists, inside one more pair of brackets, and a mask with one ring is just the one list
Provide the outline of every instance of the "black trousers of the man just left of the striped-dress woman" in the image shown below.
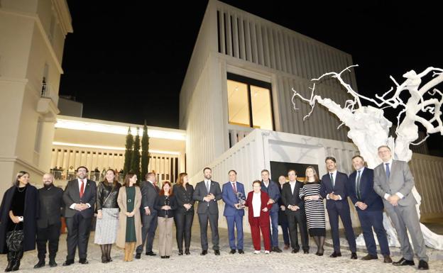
[[298,235],[297,235],[297,225],[298,225],[300,229],[300,237],[302,239],[302,248],[303,250],[309,250],[309,240],[307,237],[305,211],[299,209],[298,211],[288,214],[288,224],[289,224],[289,237],[292,249],[300,250],[300,245],[298,245]]

